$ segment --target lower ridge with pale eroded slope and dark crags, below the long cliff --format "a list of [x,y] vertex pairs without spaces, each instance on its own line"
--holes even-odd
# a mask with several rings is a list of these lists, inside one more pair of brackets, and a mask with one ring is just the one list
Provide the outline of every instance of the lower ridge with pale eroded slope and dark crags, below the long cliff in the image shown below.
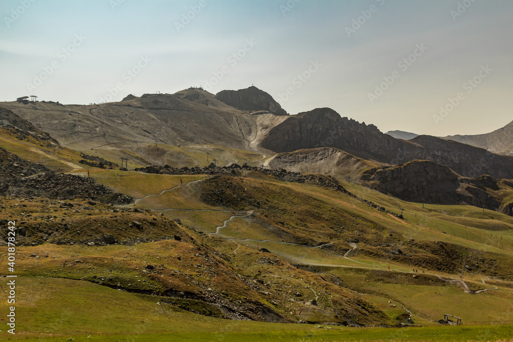
[[334,148],[279,153],[266,161],[275,169],[327,173],[344,182],[376,189],[409,202],[468,204],[511,216],[513,182],[491,176],[462,177],[444,165],[412,160],[397,166],[380,165]]

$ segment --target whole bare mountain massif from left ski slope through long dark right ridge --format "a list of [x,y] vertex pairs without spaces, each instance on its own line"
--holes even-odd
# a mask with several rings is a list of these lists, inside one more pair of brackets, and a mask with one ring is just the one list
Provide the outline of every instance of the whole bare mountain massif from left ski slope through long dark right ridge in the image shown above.
[[[153,163],[159,160],[148,155],[150,144],[155,148],[158,144],[217,145],[265,155],[333,147],[381,164],[431,160],[465,177],[489,174],[497,179],[513,178],[513,156],[427,135],[396,139],[374,125],[340,117],[329,108],[276,115],[271,111],[284,111],[256,87],[222,91],[215,96],[189,88],[175,94],[128,96],[122,102],[88,106],[38,103],[34,109],[17,102],[3,106],[41,126],[66,147],[80,151],[126,149],[143,154]],[[119,155],[116,158],[119,160]]]

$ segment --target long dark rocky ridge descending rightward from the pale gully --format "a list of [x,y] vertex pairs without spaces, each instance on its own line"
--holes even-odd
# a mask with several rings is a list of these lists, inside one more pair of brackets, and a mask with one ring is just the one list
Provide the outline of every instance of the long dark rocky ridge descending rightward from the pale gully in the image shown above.
[[334,147],[360,158],[392,165],[424,159],[445,165],[462,176],[489,174],[496,178],[513,178],[511,156],[427,135],[411,140],[395,139],[374,125],[340,117],[329,108],[291,115],[268,132],[262,147],[274,152]]

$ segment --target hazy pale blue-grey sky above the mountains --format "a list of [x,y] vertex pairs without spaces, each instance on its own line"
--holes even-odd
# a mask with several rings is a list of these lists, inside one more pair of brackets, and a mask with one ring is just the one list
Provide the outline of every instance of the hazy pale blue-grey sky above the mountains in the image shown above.
[[511,0],[2,0],[0,106],[258,87],[445,136],[513,120]]

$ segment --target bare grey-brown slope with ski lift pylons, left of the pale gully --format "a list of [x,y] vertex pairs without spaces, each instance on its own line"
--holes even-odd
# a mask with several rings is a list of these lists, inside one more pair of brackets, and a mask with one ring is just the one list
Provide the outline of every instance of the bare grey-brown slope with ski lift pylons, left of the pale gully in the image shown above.
[[208,107],[179,95],[144,94],[118,103],[87,106],[38,103],[37,110],[16,102],[2,106],[40,125],[61,145],[77,150],[155,142],[223,142],[228,147],[246,147],[239,128],[244,118],[234,116],[236,110]]

